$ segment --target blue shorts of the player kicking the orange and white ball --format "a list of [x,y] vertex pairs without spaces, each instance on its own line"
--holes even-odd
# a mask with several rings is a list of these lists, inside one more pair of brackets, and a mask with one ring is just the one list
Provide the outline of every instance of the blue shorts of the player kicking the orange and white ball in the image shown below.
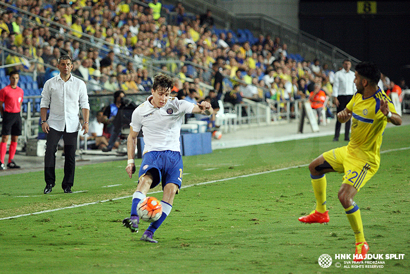
[[162,189],[168,183],[178,185],[178,191],[182,183],[182,156],[177,151],[150,151],[142,156],[139,167],[138,178],[148,172],[152,175],[153,181],[150,188],[154,188],[162,183]]

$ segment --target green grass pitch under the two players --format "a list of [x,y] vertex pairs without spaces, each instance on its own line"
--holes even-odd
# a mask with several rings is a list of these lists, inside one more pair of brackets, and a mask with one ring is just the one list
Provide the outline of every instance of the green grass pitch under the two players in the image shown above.
[[[335,254],[354,254],[337,198],[341,174],[326,175],[329,225],[297,220],[315,207],[306,165],[343,144],[320,137],[184,157],[185,187],[155,233],[158,244],[139,241],[148,223],[138,234],[122,227],[136,187],[126,161],[77,166],[73,191],[84,192],[73,194],[64,194],[59,181],[42,194],[43,172],[2,176],[0,219],[62,209],[0,220],[0,273],[408,273],[409,131],[386,129],[380,169],[355,197],[370,254],[405,254],[379,260],[381,269],[344,268],[345,260],[335,260]],[[332,256],[329,268],[319,266],[322,254]]]

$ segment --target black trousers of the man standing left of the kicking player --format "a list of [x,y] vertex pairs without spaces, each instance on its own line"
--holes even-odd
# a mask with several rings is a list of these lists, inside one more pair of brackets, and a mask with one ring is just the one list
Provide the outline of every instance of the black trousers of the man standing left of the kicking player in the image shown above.
[[55,153],[57,152],[57,143],[63,136],[64,140],[64,178],[61,187],[65,189],[67,186],[74,184],[75,172],[75,150],[77,147],[78,131],[67,133],[64,131],[56,131],[50,128],[47,134],[46,154],[44,156],[44,179],[46,184],[55,185]]

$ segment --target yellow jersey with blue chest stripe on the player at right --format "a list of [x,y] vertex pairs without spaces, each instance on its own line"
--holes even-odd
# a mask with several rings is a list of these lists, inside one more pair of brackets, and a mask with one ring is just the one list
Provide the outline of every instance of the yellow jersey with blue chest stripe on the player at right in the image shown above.
[[380,100],[388,103],[392,113],[396,113],[392,100],[382,90],[372,97],[363,98],[356,93],[346,108],[352,114],[352,134],[347,151],[354,157],[380,165],[380,145],[387,124],[387,117],[380,111]]

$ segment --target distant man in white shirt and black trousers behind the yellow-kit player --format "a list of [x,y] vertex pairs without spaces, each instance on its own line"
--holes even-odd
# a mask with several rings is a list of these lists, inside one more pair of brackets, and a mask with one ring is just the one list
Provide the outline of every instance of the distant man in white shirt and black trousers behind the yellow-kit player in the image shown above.
[[[349,59],[343,60],[343,69],[335,73],[335,82],[333,83],[333,102],[336,104],[337,113],[344,110],[347,103],[350,102],[353,95],[357,92],[355,85],[355,73],[350,70],[352,62]],[[350,133],[351,120],[345,122],[344,140],[348,141]],[[341,123],[336,119],[335,137],[333,141],[339,141]]]

